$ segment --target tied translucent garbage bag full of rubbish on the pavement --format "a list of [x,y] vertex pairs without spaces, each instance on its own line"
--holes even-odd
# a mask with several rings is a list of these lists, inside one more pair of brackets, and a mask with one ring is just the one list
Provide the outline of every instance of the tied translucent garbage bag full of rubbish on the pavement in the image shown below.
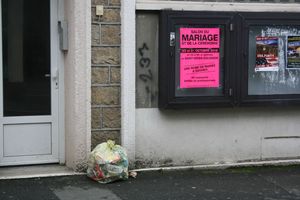
[[125,149],[112,140],[97,145],[89,155],[87,176],[100,183],[128,179]]

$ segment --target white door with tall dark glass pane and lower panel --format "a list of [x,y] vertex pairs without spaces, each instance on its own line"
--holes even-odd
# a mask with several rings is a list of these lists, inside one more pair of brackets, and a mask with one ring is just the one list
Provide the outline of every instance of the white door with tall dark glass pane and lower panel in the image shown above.
[[57,0],[0,1],[0,166],[57,163]]

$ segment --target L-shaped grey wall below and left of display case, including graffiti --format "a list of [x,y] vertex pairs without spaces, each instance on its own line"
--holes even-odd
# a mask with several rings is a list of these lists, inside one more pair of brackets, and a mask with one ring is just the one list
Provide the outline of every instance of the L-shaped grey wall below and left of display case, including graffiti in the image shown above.
[[[139,75],[146,62],[158,74],[158,18],[137,14],[136,167],[236,163],[300,157],[300,108],[159,110]],[[147,34],[146,34],[147,33]],[[144,43],[149,44],[140,54]],[[150,94],[157,90],[151,83]],[[149,103],[150,102],[150,103]]]

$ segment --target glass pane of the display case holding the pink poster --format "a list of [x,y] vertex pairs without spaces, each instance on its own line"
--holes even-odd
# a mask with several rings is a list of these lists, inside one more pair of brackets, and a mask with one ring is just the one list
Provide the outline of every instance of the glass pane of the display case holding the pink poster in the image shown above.
[[224,27],[177,26],[175,96],[224,95]]

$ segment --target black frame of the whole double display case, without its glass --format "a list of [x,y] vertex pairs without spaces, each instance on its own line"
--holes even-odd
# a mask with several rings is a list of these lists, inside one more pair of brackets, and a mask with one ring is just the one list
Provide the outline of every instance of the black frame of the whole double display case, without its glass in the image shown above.
[[[225,26],[224,96],[175,95],[175,25]],[[249,26],[300,25],[298,13],[162,11],[159,36],[159,108],[233,107],[300,104],[300,94],[248,95]]]

